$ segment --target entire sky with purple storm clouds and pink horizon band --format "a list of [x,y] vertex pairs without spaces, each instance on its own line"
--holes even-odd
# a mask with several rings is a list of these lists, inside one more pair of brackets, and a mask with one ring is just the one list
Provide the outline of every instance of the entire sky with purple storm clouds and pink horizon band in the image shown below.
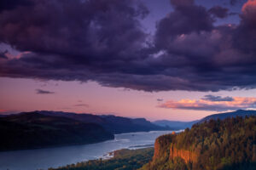
[[255,15],[256,0],[3,0],[0,113],[255,109]]

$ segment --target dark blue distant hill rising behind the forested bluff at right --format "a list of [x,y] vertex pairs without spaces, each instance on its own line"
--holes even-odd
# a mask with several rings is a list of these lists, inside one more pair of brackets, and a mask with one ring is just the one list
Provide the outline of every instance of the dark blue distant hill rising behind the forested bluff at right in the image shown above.
[[219,113],[219,114],[214,114],[210,116],[206,116],[205,118],[200,120],[201,122],[206,122],[211,119],[213,120],[224,120],[227,117],[236,117],[236,116],[256,116],[256,111],[245,111],[245,110],[238,110],[238,111],[231,111],[231,112],[226,112],[226,113]]

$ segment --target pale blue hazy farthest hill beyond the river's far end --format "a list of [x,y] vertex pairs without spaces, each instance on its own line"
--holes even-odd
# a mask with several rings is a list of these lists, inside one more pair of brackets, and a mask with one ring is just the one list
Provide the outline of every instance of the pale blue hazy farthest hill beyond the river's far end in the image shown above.
[[185,128],[191,128],[196,122],[199,121],[193,121],[193,122],[177,122],[177,121],[167,121],[167,120],[160,120],[153,122],[155,125],[161,126],[161,127],[170,127],[173,130],[179,130],[179,129],[185,129]]

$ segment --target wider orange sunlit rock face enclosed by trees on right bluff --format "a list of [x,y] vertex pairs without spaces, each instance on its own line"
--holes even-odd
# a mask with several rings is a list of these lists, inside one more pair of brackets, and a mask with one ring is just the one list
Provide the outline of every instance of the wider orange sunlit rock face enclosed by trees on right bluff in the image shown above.
[[169,159],[173,160],[175,157],[180,157],[182,158],[186,163],[197,162],[197,154],[195,152],[192,152],[190,150],[177,150],[173,145],[170,147],[170,155]]

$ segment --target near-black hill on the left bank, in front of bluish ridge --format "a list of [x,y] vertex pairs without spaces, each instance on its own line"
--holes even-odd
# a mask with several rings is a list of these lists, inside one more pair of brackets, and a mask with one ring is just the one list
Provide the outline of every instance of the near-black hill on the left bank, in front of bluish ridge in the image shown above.
[[96,123],[38,112],[0,117],[0,150],[22,150],[69,144],[91,144],[113,139]]

